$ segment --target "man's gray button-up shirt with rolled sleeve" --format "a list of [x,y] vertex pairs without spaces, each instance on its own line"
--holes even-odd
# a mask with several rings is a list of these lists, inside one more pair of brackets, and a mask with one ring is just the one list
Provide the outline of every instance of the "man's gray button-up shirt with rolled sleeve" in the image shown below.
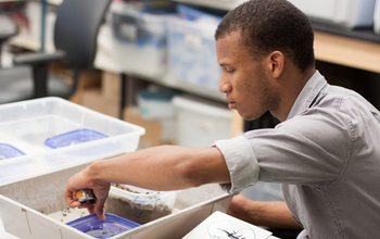
[[287,121],[218,140],[230,193],[281,183],[299,238],[380,238],[380,113],[316,72]]

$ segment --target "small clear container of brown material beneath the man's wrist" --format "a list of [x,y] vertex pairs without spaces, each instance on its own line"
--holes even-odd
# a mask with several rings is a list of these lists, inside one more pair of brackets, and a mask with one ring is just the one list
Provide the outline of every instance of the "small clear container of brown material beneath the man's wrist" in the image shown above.
[[153,191],[129,185],[112,186],[104,209],[109,213],[145,224],[169,215],[176,197],[177,191]]

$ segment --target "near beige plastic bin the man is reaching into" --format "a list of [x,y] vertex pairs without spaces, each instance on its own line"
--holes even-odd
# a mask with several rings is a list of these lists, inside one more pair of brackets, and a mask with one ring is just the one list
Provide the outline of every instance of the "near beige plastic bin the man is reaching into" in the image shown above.
[[[52,218],[67,209],[63,198],[67,180],[88,164],[0,186],[0,216],[8,232],[22,239],[93,239]],[[181,238],[214,211],[226,212],[231,196],[216,184],[180,190],[174,212],[112,238]]]

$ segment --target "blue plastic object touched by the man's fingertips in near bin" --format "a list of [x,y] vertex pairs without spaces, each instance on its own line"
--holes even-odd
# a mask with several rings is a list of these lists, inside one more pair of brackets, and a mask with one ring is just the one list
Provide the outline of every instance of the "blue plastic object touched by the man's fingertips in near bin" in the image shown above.
[[67,223],[66,225],[74,227],[94,238],[110,238],[124,231],[140,226],[135,222],[125,219],[114,214],[104,212],[105,221],[101,221],[96,214],[91,214]]

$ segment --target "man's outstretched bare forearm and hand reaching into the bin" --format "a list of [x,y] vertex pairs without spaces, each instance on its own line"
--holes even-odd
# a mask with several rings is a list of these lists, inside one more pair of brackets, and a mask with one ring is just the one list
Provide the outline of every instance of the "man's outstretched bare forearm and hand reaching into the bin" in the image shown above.
[[[71,206],[87,206],[104,218],[110,184],[128,184],[153,190],[177,190],[211,183],[230,183],[223,154],[217,148],[195,149],[161,146],[92,163],[69,178],[65,199]],[[96,205],[75,201],[75,192],[90,188]]]

